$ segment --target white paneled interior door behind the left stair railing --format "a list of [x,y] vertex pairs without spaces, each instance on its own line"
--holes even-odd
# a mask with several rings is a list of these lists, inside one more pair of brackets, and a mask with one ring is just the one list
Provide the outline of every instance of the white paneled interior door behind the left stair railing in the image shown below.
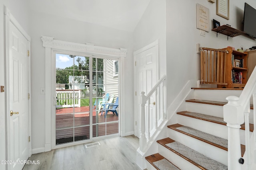
[[[158,45],[146,49],[135,55],[136,60],[136,77],[135,77],[135,121],[136,121],[136,136],[140,137],[140,112],[141,106],[139,103],[140,92],[145,92],[145,95],[153,88],[158,80]],[[146,127],[149,124],[149,130],[152,130],[155,121],[155,104],[156,96],[153,94],[150,98],[150,104],[146,104]],[[149,118],[149,119],[148,119]],[[150,121],[148,121],[150,120]],[[148,129],[146,128],[146,133]]]

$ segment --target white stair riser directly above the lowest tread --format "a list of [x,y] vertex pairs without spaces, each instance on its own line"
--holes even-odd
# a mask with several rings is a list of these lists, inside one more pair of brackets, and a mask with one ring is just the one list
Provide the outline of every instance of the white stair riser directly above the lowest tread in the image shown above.
[[158,145],[158,153],[160,153],[162,156],[164,156],[167,160],[172,162],[175,166],[177,166],[181,170],[201,170],[194,164],[188,162],[187,160],[178,156],[174,152],[166,149],[162,145]]

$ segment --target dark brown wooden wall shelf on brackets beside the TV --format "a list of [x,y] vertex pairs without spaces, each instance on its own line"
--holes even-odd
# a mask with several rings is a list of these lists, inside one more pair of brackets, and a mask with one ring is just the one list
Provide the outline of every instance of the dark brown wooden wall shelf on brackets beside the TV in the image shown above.
[[219,34],[224,34],[227,35],[228,38],[246,34],[245,32],[232,28],[228,25],[221,25],[217,28],[212,29],[212,31],[215,31],[217,33],[217,37]]

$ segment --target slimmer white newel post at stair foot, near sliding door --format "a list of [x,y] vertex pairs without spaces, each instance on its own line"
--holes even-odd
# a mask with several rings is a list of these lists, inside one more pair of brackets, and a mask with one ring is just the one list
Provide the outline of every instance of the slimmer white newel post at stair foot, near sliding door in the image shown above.
[[145,120],[145,104],[146,104],[146,96],[145,92],[140,93],[140,106],[141,106],[141,113],[140,113],[140,150],[144,152],[146,147],[147,139],[145,135],[146,131],[146,120]]

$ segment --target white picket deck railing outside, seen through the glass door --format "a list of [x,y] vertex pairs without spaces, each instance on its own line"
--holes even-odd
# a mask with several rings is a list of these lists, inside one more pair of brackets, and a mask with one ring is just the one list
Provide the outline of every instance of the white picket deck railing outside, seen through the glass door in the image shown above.
[[81,90],[56,90],[57,107],[81,107]]

